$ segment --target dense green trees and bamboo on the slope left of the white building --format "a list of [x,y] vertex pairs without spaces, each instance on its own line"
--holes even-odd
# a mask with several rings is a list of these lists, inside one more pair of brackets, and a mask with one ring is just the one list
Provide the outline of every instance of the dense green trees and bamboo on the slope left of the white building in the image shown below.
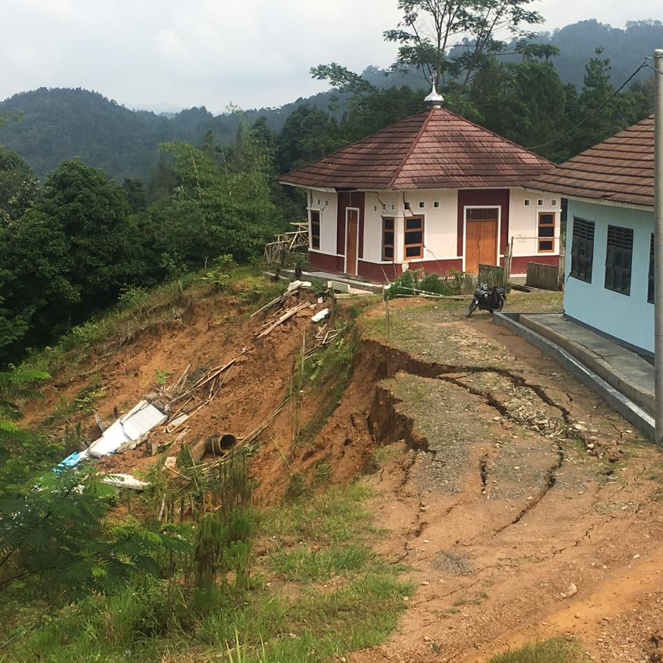
[[147,189],[115,184],[65,160],[41,189],[17,155],[0,151],[0,365],[117,301],[222,254],[247,262],[278,224],[269,151],[240,124],[220,153],[164,143]]

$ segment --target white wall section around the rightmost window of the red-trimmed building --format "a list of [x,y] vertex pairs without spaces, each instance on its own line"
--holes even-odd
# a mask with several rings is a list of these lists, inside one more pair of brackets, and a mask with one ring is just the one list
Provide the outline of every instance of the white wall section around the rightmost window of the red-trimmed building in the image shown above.
[[[529,200],[529,206],[525,206]],[[539,200],[543,200],[539,205]],[[539,253],[539,212],[555,213],[555,240],[553,251]],[[511,189],[509,203],[509,238],[513,237],[513,255],[557,256],[559,255],[559,229],[561,221],[561,198],[554,193],[541,193],[529,189]]]

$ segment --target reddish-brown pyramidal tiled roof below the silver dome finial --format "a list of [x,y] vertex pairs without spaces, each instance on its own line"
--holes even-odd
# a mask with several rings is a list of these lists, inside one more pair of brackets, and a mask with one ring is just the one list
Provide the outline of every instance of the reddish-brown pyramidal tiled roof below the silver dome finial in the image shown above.
[[280,182],[325,189],[482,189],[523,186],[553,167],[459,115],[432,108],[282,175]]

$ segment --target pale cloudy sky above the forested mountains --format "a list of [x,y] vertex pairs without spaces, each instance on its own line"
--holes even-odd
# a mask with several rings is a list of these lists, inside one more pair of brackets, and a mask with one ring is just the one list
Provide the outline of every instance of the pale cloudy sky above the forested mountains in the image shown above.
[[[538,0],[544,28],[655,18],[654,0]],[[311,66],[386,66],[396,0],[0,0],[0,99],[83,87],[126,106],[279,106],[326,88]]]

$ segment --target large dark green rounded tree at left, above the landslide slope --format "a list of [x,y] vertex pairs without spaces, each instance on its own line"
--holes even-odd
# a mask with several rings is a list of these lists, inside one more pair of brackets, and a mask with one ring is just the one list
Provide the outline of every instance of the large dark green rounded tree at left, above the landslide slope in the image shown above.
[[35,344],[108,306],[146,269],[124,189],[77,160],[46,178],[37,204],[4,234],[4,306],[29,317]]

